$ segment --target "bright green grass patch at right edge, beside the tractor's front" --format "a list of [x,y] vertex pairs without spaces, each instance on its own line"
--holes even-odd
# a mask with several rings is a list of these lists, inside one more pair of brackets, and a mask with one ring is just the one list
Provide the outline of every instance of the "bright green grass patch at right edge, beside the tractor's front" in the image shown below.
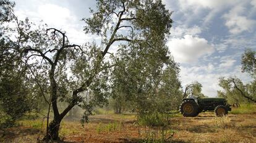
[[256,113],[256,104],[241,104],[241,107],[232,108],[232,114]]

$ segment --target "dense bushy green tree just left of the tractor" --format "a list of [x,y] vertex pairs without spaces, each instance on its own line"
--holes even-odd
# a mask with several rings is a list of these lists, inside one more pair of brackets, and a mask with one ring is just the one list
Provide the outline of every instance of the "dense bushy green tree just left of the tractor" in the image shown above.
[[165,41],[156,43],[123,46],[117,52],[111,76],[112,94],[129,101],[141,115],[176,109],[182,97],[179,68],[169,56]]

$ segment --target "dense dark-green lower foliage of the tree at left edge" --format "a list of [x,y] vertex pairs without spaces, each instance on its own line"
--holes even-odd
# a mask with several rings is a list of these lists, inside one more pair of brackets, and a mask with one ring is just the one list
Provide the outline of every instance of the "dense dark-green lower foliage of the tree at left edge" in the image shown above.
[[4,116],[1,116],[4,118],[2,127],[15,125],[17,119],[33,108],[27,81],[14,63],[12,69],[0,67],[0,110],[4,113]]

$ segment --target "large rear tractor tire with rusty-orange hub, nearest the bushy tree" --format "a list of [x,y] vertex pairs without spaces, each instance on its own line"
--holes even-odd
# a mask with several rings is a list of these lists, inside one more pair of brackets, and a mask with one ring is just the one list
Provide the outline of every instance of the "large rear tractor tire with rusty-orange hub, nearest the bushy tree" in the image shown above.
[[197,116],[199,107],[194,100],[183,100],[179,111],[183,116]]

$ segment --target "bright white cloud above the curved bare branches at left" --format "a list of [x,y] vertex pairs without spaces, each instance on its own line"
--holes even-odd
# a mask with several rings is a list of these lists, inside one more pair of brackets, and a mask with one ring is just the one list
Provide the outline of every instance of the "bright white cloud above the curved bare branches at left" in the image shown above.
[[48,27],[65,31],[71,44],[81,45],[98,38],[95,35],[85,35],[83,23],[66,7],[55,4],[42,4],[41,2],[35,2],[33,7],[35,9],[19,7],[19,9],[15,9],[15,14],[20,20],[25,19],[25,17],[35,23],[40,23],[43,20],[43,23],[47,23]]

